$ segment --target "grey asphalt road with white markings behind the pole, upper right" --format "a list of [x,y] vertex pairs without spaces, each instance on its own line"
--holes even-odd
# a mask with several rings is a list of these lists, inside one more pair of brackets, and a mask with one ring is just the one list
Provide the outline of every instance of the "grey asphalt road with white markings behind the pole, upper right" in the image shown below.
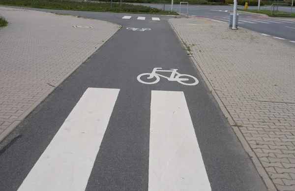
[[[144,4],[146,6],[152,6],[155,8],[163,9],[163,4]],[[243,8],[243,7],[238,7]],[[267,7],[261,7],[262,9],[267,9]],[[282,7],[284,10],[288,9],[288,7]],[[173,9],[179,12],[179,5],[174,5]],[[249,9],[256,9],[255,7],[249,7]],[[289,9],[291,9],[289,7]],[[171,10],[171,4],[165,5],[165,10]],[[220,11],[219,11],[220,10]],[[221,10],[233,11],[233,6],[197,6],[190,5],[188,6],[188,14],[190,16],[194,15],[197,17],[206,17],[208,19],[220,20],[223,22],[227,22],[229,20],[229,12],[223,12]],[[295,8],[294,8],[295,11]],[[187,7],[185,5],[181,5],[181,13],[186,14]],[[289,41],[295,40],[295,18],[293,21],[280,21],[285,20],[286,18],[277,18],[277,17],[261,17],[255,16],[247,13],[238,13],[239,19],[246,19],[245,22],[240,21],[238,26],[256,31],[265,33],[271,36],[280,37],[286,39],[286,43],[294,45],[295,43],[290,43]],[[273,20],[271,20],[273,19]],[[277,21],[279,20],[279,21]],[[271,22],[274,21],[274,22]],[[250,23],[247,23],[250,22]]]

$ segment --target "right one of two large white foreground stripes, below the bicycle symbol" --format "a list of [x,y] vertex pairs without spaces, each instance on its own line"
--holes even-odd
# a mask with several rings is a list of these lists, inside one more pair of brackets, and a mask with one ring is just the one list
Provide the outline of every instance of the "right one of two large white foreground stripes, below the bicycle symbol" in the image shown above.
[[148,191],[211,191],[183,92],[151,91]]

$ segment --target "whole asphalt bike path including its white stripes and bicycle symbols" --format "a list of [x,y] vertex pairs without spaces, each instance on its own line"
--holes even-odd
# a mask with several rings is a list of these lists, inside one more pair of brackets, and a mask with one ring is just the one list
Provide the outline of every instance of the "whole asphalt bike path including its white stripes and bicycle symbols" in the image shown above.
[[265,191],[169,17],[112,14],[123,27],[2,142],[0,190]]

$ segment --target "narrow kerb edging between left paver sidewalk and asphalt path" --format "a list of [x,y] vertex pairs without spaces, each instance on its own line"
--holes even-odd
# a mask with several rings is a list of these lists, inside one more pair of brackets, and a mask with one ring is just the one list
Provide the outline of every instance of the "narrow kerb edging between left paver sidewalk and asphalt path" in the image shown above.
[[[108,21],[105,21],[108,22]],[[112,23],[112,22],[108,22]],[[117,23],[112,23],[118,25],[120,28],[118,28],[117,32],[121,29],[121,25]],[[20,117],[17,118],[16,121],[14,121],[9,127],[7,127],[2,133],[0,133],[0,142],[9,135],[11,131],[13,131],[18,125],[47,97],[49,96],[63,81],[65,81],[81,64],[86,62],[89,57],[91,57],[97,50],[99,50],[107,41],[109,41],[117,32],[115,32],[109,39],[107,39],[103,44],[101,44],[100,47],[94,49],[89,55],[84,57],[82,62],[75,65],[64,77],[62,77],[57,83],[54,84],[55,87],[50,88],[48,91],[46,91],[43,96],[41,96],[34,104],[32,104]]]

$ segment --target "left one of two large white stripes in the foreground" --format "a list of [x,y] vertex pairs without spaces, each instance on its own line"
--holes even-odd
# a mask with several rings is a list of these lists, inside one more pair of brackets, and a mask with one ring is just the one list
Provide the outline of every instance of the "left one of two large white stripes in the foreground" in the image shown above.
[[118,93],[88,88],[18,191],[85,191]]

